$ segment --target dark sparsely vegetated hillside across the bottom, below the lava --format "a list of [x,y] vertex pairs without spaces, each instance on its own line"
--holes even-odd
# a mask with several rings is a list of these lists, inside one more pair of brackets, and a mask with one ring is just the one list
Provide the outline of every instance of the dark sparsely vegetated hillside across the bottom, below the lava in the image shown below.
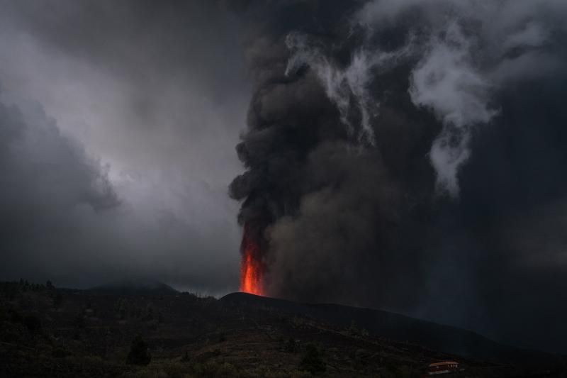
[[[434,333],[431,323],[368,311],[247,294],[101,294],[0,283],[0,377],[420,377],[442,360],[464,368],[453,377],[563,374],[561,357],[526,367],[427,348],[411,336],[416,330],[427,341],[420,332]],[[388,328],[408,337],[393,340]]]

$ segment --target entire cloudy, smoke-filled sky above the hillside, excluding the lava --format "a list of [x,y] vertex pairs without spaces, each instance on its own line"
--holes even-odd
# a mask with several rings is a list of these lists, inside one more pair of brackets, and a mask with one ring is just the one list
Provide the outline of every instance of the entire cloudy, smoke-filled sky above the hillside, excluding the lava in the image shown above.
[[0,278],[224,294],[239,217],[271,295],[567,352],[566,16],[0,0]]

